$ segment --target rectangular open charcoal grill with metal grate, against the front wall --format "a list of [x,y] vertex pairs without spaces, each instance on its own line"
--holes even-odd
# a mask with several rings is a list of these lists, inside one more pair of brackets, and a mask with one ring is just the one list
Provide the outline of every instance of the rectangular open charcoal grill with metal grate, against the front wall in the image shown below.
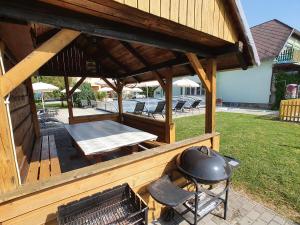
[[128,184],[60,206],[60,225],[147,224],[148,208]]

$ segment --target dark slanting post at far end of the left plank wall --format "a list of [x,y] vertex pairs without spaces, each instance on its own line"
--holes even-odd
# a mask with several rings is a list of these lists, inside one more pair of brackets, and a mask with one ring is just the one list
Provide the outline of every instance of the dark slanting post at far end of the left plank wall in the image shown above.
[[33,122],[33,126],[34,126],[34,133],[35,133],[35,137],[38,138],[38,137],[40,137],[40,123],[39,123],[39,120],[37,117],[36,105],[34,102],[34,94],[33,94],[33,89],[32,89],[31,77],[26,80],[25,84],[27,86],[27,91],[28,91],[31,117],[32,117],[32,122]]

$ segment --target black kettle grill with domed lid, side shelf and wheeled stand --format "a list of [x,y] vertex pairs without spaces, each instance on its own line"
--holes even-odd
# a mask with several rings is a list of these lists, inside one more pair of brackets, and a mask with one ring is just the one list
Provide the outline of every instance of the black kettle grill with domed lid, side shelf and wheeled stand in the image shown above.
[[[191,147],[177,156],[176,166],[190,181],[189,184],[194,184],[195,192],[174,185],[167,175],[152,183],[148,189],[156,201],[173,208],[172,212],[175,211],[190,224],[197,224],[220,204],[224,204],[223,218],[226,220],[230,178],[232,169],[238,165],[238,160],[222,156],[206,146]],[[226,184],[218,193],[203,186],[222,181]]]

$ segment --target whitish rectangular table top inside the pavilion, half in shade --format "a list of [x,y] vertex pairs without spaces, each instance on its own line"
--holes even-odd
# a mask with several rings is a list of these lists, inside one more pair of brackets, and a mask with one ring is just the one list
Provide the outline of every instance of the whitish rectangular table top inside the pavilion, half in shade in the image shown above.
[[156,140],[157,136],[111,120],[65,125],[85,155]]

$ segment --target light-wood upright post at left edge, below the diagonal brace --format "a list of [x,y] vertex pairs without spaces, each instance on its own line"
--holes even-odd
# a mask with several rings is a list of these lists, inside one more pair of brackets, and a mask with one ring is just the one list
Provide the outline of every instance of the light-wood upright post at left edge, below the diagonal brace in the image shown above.
[[[3,47],[3,46],[2,46]],[[2,57],[3,48],[0,46],[0,57]],[[4,74],[0,66],[0,76]],[[1,86],[2,80],[0,80]],[[4,98],[0,96],[0,194],[12,191],[18,187],[18,170],[16,168],[14,148],[9,126]]]

